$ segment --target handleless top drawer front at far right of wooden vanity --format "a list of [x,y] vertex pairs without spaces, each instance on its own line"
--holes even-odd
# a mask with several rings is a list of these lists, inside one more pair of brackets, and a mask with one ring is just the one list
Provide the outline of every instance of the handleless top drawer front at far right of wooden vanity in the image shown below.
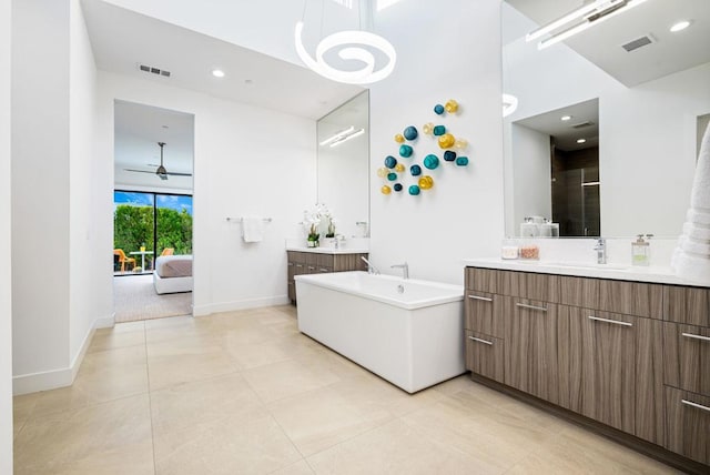
[[663,320],[710,326],[710,289],[666,285],[663,303]]

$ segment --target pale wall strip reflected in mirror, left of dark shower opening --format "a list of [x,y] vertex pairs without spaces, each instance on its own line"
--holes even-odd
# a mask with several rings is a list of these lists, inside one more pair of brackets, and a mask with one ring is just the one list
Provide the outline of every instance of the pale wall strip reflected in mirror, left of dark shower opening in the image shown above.
[[513,229],[518,234],[526,216],[552,219],[550,192],[550,137],[524,125],[513,124],[511,150],[515,190]]

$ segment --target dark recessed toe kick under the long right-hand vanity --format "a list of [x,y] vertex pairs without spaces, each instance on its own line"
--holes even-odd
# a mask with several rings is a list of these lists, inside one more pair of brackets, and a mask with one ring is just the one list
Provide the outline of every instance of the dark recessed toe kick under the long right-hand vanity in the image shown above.
[[504,394],[507,394],[516,400],[523,401],[524,403],[530,404],[535,407],[538,407],[542,411],[549,412],[560,418],[564,418],[572,424],[579,425],[595,434],[607,437],[620,445],[629,447],[640,454],[646,455],[647,457],[657,459],[666,465],[670,465],[673,468],[678,468],[688,474],[706,474],[708,473],[708,466],[701,464],[700,462],[692,461],[690,458],[683,457],[674,452],[670,452],[669,449],[661,447],[660,445],[656,445],[642,438],[638,438],[631,434],[627,434],[626,432],[619,431],[617,428],[610,427],[600,422],[594,421],[589,417],[585,417],[580,414],[577,414],[572,411],[566,410],[565,407],[555,405],[552,403],[548,403],[547,401],[540,400],[538,397],[531,396],[527,393],[516,390],[515,387],[507,386],[505,384],[498,383],[497,381],[489,380],[485,376],[480,376],[477,374],[470,374],[471,381],[475,383],[483,384],[484,386],[488,386],[493,390],[499,391]]

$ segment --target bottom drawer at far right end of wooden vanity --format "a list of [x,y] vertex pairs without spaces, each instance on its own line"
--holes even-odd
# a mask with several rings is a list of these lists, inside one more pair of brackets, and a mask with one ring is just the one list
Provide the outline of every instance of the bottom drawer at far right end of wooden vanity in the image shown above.
[[666,448],[710,465],[710,397],[666,386]]

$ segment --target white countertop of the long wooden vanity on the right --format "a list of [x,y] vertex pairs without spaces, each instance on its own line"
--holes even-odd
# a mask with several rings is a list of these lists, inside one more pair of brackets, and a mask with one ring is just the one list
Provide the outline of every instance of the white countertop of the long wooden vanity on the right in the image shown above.
[[618,281],[650,282],[659,284],[710,285],[678,277],[671,267],[617,264],[589,264],[585,262],[549,262],[526,260],[466,259],[464,263],[471,267],[498,269],[504,271],[537,272],[541,274],[574,275],[580,277],[613,279]]

